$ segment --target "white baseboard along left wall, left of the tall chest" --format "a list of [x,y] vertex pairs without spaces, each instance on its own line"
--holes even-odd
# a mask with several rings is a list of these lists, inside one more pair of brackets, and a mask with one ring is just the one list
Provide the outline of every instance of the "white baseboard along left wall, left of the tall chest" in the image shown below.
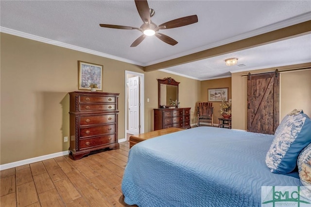
[[63,151],[63,152],[59,152],[59,153],[53,153],[50,155],[42,155],[42,156],[37,156],[37,157],[33,157],[33,158],[29,158],[29,159],[24,159],[24,160],[20,160],[20,161],[16,161],[16,162],[11,162],[11,163],[7,163],[7,164],[2,164],[0,165],[0,170],[6,170],[9,168],[15,168],[21,165],[26,165],[26,164],[30,164],[30,163],[34,163],[34,162],[39,162],[45,159],[51,159],[54,157],[58,157],[58,156],[63,156],[63,155],[69,155],[69,150],[67,151]]

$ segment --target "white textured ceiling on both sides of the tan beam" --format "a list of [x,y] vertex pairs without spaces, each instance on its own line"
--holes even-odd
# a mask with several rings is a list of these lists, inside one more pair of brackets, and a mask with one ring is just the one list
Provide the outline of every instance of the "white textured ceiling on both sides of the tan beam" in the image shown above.
[[[152,21],[197,15],[198,23],[161,30],[178,44],[168,45],[155,36],[135,48],[139,31],[102,28],[100,23],[139,27],[133,0],[104,1],[0,1],[1,32],[25,36],[64,47],[148,66],[193,52],[311,20],[311,1],[187,1],[149,0]],[[238,57],[245,66],[226,67],[224,60]],[[166,68],[198,80],[229,76],[230,71],[269,68],[311,62],[311,35]]]

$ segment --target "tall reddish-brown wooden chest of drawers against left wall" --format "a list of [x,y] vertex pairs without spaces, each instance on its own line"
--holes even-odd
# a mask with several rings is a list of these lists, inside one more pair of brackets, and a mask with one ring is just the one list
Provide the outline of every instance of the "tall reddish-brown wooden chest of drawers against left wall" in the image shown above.
[[74,91],[69,96],[69,157],[76,160],[96,150],[119,149],[119,93]]

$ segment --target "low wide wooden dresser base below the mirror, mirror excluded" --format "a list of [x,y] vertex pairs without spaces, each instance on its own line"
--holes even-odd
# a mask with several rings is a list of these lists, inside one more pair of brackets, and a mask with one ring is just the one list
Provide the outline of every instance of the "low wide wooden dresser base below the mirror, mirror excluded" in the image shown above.
[[154,128],[155,130],[170,127],[189,129],[191,108],[155,108]]

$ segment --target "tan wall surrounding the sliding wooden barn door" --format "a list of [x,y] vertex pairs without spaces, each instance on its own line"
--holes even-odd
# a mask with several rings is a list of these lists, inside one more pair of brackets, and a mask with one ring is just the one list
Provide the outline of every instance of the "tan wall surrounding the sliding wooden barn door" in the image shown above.
[[[299,67],[310,67],[311,64],[300,64],[295,66],[278,67],[282,69],[293,69]],[[232,128],[247,129],[247,77],[242,75],[273,69],[261,69],[232,73]],[[280,73],[280,121],[294,108],[303,109],[311,116],[311,70],[300,70]]]

